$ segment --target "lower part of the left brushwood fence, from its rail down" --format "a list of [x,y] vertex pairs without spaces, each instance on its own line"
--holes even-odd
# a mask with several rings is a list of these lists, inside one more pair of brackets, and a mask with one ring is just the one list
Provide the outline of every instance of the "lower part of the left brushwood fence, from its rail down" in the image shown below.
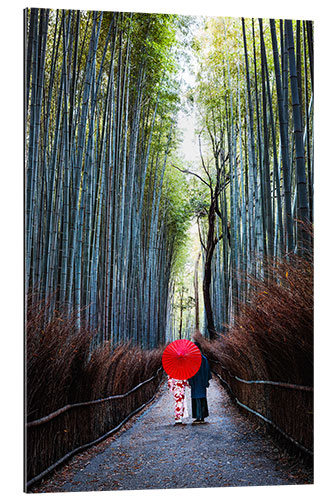
[[75,453],[116,432],[154,397],[163,379],[162,367],[126,394],[66,405],[28,422],[27,487]]

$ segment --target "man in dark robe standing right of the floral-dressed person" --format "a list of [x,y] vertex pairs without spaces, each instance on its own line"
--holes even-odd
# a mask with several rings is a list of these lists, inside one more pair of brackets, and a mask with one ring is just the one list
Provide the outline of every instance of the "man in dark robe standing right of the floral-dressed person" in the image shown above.
[[[194,342],[194,344],[200,349],[200,344],[197,342]],[[206,390],[207,387],[209,387],[211,378],[212,374],[207,358],[201,352],[201,365],[199,371],[188,379],[191,386],[192,417],[195,419],[193,421],[194,424],[202,424],[205,422],[205,418],[208,417]]]

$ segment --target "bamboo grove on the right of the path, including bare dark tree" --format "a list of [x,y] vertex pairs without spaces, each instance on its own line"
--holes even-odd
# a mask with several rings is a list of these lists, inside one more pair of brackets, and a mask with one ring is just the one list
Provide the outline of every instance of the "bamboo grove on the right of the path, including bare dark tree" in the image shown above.
[[197,53],[202,176],[193,206],[204,330],[214,338],[251,298],[247,276],[267,278],[265,263],[292,254],[311,261],[312,22],[210,19]]

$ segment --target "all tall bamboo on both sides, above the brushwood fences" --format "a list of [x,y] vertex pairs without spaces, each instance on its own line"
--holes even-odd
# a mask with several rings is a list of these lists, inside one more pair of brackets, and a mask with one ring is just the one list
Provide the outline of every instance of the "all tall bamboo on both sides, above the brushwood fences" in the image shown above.
[[[202,18],[189,43],[192,22],[26,11],[27,307],[75,314],[97,344],[156,347],[182,335],[183,311],[212,339],[250,299],[248,275],[311,260],[312,22]],[[185,45],[199,69],[181,95]],[[198,165],[177,152],[184,97]],[[198,255],[193,297],[181,278],[191,222],[203,318]]]

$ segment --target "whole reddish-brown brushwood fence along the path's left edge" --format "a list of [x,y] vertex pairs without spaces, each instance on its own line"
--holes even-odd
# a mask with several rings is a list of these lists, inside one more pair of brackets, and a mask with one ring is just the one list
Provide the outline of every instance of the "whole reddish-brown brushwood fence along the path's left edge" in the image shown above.
[[94,347],[94,335],[83,323],[76,328],[74,314],[50,314],[48,302],[28,307],[27,488],[115,432],[152,399],[162,380],[162,348]]

